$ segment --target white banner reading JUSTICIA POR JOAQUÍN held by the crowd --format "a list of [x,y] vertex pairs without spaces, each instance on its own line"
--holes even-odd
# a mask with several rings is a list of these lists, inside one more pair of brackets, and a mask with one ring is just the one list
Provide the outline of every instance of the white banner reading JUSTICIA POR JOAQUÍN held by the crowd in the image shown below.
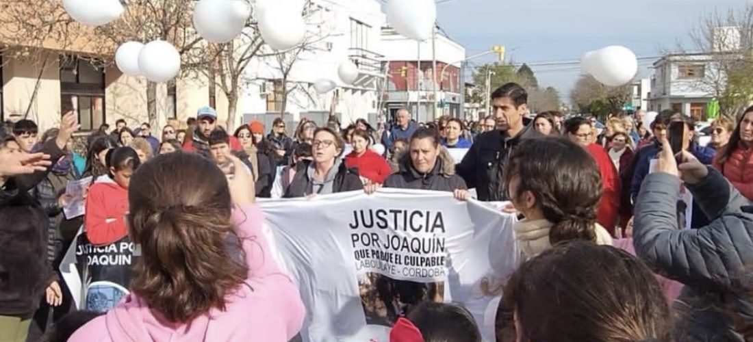
[[495,340],[499,289],[519,263],[515,217],[495,204],[381,189],[261,207],[306,305],[304,341],[386,342],[395,319],[427,300],[464,304]]

